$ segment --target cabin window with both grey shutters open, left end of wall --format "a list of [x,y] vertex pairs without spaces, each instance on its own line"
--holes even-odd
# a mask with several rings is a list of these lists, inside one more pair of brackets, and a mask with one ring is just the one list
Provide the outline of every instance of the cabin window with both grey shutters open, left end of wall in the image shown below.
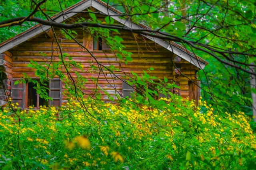
[[48,96],[52,100],[46,101],[44,98],[40,98],[40,95],[36,93],[36,84],[32,82],[14,84],[17,79],[12,80],[11,84],[11,98],[12,103],[18,102],[21,109],[26,109],[30,106],[34,106],[34,109],[39,109],[39,106],[61,106],[62,104],[62,83],[60,79],[50,79],[50,83],[45,85]]

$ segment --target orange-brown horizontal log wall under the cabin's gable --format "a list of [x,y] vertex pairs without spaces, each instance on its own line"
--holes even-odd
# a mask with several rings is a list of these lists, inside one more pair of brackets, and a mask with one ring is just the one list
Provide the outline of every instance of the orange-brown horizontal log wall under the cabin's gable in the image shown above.
[[[74,16],[75,18],[78,17]],[[80,14],[79,17],[83,17],[86,19],[89,19],[88,16],[85,14]],[[97,18],[104,21],[104,16],[97,15]],[[115,22],[115,24],[118,24]],[[78,33],[76,36],[76,39],[78,42],[84,44],[84,31],[82,29],[72,29]],[[68,53],[70,57],[73,58],[74,61],[77,63],[82,63],[84,68],[84,73],[80,73],[85,78],[88,78],[89,76],[92,76],[94,78],[98,77],[98,74],[90,73],[88,71],[89,68],[89,61],[91,63],[95,63],[94,59],[92,59],[91,55],[84,51],[77,43],[75,43],[73,40],[66,39],[63,37],[63,35],[60,34],[60,30],[58,28],[55,28],[56,35],[58,35],[58,41],[60,42],[60,45],[62,47],[62,51],[64,53]],[[156,76],[160,79],[164,79],[164,76],[168,78],[168,80],[174,79],[173,74],[173,62],[172,61],[174,56],[172,56],[172,53],[165,49],[162,46],[159,46],[155,44],[153,41],[150,41],[143,37],[142,35],[133,34],[126,31],[119,31],[120,34],[116,32],[112,32],[113,35],[118,35],[121,37],[124,41],[121,43],[126,47],[124,50],[128,52],[132,52],[134,55],[132,55],[132,62],[129,62],[128,64],[125,64],[124,62],[120,62],[118,57],[116,57],[116,53],[112,51],[92,51],[94,56],[96,56],[97,60],[106,65],[109,66],[110,64],[116,66],[117,68],[120,68],[120,70],[125,72],[133,71],[137,74],[143,74],[143,70],[146,72],[148,68],[152,67],[154,70],[150,73],[151,76]],[[53,42],[53,43],[52,43]],[[53,45],[53,48],[52,48]],[[52,53],[53,50],[53,53]],[[39,52],[43,52],[46,56],[43,57]],[[22,74],[25,72],[28,74],[28,76],[35,77],[34,69],[27,67],[28,63],[30,63],[30,59],[36,62],[46,62],[49,59],[53,59],[53,61],[59,61],[58,55],[60,52],[58,51],[58,46],[56,41],[53,41],[53,38],[50,37],[47,33],[41,33],[40,35],[37,35],[36,37],[29,39],[28,41],[25,41],[24,43],[21,43],[20,45],[12,48],[10,50],[10,53],[12,53],[12,76],[13,78],[20,78],[24,75]],[[68,59],[67,59],[68,60]],[[190,64],[187,61],[180,61],[181,69],[180,72],[182,74],[185,74],[188,78],[192,80],[197,80],[196,76],[196,70],[197,68]],[[9,66],[10,67],[10,66]],[[75,70],[70,71],[71,75],[75,77]],[[78,70],[78,69],[77,69]],[[64,71],[64,70],[63,70]],[[112,77],[109,73],[104,72],[105,75],[100,74],[98,84],[100,87],[104,88],[111,96],[114,97],[115,91],[114,89],[108,84],[116,87],[116,90],[122,94],[122,81],[119,80],[116,77]],[[121,74],[117,74],[118,76],[121,76]],[[183,98],[189,98],[189,86],[188,86],[188,78],[186,76],[180,76],[179,77],[179,83],[180,83],[180,95]],[[107,77],[108,80],[105,79]],[[64,85],[63,85],[63,90]],[[91,95],[93,93],[93,89],[95,88],[95,83],[92,81],[88,81],[88,84],[86,85],[87,88],[87,94]],[[104,94],[104,92],[100,92],[103,95],[104,99],[107,99],[108,97]],[[62,95],[62,104],[65,104],[67,102],[67,97],[65,95]]]

